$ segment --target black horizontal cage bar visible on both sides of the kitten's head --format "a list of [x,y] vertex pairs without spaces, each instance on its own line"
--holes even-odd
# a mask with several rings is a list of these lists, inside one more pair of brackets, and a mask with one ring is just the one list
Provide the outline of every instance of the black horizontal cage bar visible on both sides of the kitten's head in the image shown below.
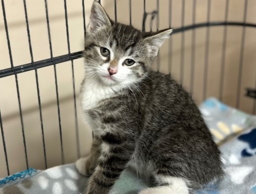
[[[195,25],[191,25],[191,26],[185,26],[185,27],[181,27],[181,28],[176,28],[173,30],[173,33],[180,33],[180,32],[184,32],[187,30],[193,30],[196,28],[202,28],[202,27],[207,27],[207,26],[243,26],[243,27],[254,27],[256,28],[256,24],[253,23],[243,23],[243,22],[210,22],[210,23],[200,23],[200,24],[195,24]],[[25,65],[20,65],[20,66],[16,66],[13,68],[13,70],[11,68],[8,69],[4,69],[4,70],[0,70],[0,78],[6,77],[6,76],[11,76],[22,72],[27,72],[30,70],[34,70],[35,68],[42,68],[42,67],[46,67],[46,66],[50,66],[58,63],[62,63],[62,62],[66,62],[66,61],[70,61],[73,59],[77,59],[77,58],[81,58],[83,57],[83,51],[79,51],[79,52],[74,52],[74,53],[70,53],[66,54],[66,55],[62,55],[62,56],[58,56],[58,57],[53,57],[52,59],[46,59],[46,60],[42,60],[42,61],[37,61],[34,62],[34,67],[32,66],[31,63],[25,64]]]

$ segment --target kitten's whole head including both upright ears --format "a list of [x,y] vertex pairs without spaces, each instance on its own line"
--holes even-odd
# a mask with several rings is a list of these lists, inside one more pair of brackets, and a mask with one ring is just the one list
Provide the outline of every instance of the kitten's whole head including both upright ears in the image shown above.
[[114,23],[95,1],[85,37],[86,76],[105,85],[139,82],[147,76],[160,45],[171,32],[142,33]]

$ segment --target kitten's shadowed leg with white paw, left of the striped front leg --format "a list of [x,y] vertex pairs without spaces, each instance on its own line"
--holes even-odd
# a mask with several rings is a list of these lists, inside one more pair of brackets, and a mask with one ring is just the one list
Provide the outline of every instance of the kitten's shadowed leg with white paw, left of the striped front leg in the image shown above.
[[94,139],[90,155],[76,161],[76,169],[84,176],[91,176],[98,165],[100,155],[100,140]]

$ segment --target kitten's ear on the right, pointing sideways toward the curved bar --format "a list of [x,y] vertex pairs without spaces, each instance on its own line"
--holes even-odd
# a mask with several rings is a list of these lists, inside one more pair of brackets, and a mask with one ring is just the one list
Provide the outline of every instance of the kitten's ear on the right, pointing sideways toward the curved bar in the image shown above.
[[155,57],[164,40],[168,39],[171,34],[172,28],[160,30],[154,33],[145,33],[144,40],[148,46],[149,53]]

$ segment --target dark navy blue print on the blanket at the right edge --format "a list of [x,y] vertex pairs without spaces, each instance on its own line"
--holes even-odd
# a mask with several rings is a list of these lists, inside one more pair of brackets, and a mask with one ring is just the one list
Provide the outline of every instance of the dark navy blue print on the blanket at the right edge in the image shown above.
[[[251,150],[256,149],[256,128],[253,129],[252,131],[250,131],[250,132],[247,133],[247,134],[240,135],[240,136],[238,137],[238,139],[241,140],[241,141],[243,141],[243,142],[248,143]],[[256,154],[256,153],[255,153],[255,154]],[[252,156],[253,154],[250,153],[249,148],[245,148],[245,149],[241,152],[241,155],[242,155],[243,157],[248,157],[248,156]]]

